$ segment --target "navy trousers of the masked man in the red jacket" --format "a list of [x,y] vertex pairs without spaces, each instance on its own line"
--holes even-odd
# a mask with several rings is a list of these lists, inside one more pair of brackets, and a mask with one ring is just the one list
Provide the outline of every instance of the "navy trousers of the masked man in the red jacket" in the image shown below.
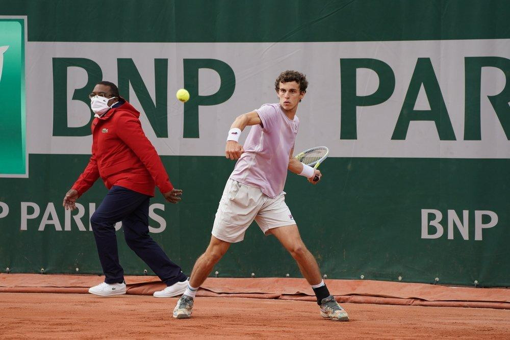
[[187,279],[181,267],[174,264],[149,236],[149,198],[133,190],[113,186],[90,218],[106,283],[124,281],[115,234],[115,223],[119,221],[122,221],[127,245],[161,281],[170,286]]

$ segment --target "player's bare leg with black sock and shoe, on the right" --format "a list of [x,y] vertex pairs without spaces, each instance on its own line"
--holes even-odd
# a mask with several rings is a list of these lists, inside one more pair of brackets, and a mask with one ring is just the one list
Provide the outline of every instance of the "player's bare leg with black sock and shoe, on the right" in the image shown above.
[[301,273],[310,283],[317,297],[321,316],[335,321],[348,321],[347,312],[335,301],[333,295],[329,294],[326,284],[321,279],[317,261],[301,240],[297,225],[272,228],[269,232],[282,243],[296,260]]

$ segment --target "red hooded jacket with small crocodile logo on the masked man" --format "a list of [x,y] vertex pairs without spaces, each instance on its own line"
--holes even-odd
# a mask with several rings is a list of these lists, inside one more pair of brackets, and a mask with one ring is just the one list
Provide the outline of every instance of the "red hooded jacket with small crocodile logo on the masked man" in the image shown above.
[[72,186],[81,196],[101,176],[105,186],[121,186],[148,196],[154,187],[173,189],[156,149],[140,124],[140,113],[124,102],[92,121],[92,156]]

